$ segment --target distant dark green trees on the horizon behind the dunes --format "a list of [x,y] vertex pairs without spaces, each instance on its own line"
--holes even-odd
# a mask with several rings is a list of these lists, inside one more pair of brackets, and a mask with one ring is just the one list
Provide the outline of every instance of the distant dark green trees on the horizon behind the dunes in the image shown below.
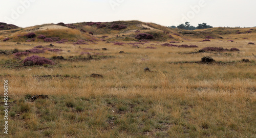
[[[168,26],[168,27],[176,29],[176,26],[174,26],[174,25],[173,26]],[[182,24],[178,25],[177,28],[178,29],[184,29],[184,30],[196,30],[196,29],[209,29],[209,28],[212,28],[212,26],[207,25],[207,23],[200,23],[200,24],[198,24],[197,27],[195,27],[193,25],[190,25],[189,22],[187,21],[187,22],[185,22],[185,24],[182,23]]]

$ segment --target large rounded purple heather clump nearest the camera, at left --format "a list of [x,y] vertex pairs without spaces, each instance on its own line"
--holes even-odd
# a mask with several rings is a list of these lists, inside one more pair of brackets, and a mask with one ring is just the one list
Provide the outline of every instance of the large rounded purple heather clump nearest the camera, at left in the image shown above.
[[54,65],[55,63],[49,59],[46,59],[44,57],[39,57],[39,56],[31,56],[31,57],[27,57],[23,63],[28,62],[28,61],[32,61],[35,65],[38,66],[42,66],[44,64],[48,64],[48,65]]

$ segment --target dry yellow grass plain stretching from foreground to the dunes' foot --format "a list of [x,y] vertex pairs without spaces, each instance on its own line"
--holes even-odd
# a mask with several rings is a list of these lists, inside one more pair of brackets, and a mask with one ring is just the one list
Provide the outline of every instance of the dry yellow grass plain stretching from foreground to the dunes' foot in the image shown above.
[[[65,60],[52,59],[55,65],[44,66],[25,67],[22,61],[26,56],[16,60],[13,54],[1,54],[0,96],[4,96],[7,79],[10,109],[9,134],[0,135],[256,137],[256,58],[252,55],[256,47],[248,44],[256,43],[255,33],[223,36],[210,42],[185,36],[190,40],[178,43],[198,48],[162,46],[168,41],[150,41],[138,45],[140,48],[106,41],[89,45],[53,43],[54,48],[63,51],[34,55],[49,59],[63,56]],[[0,49],[25,51],[50,44],[21,43],[0,42]],[[155,49],[146,48],[150,46]],[[208,46],[236,47],[240,51],[188,54]],[[79,60],[89,57],[81,52],[90,52],[93,59]],[[216,62],[200,63],[205,56]],[[145,67],[151,72],[145,72]],[[103,77],[90,77],[92,73]],[[33,95],[48,95],[49,99],[31,101]],[[3,110],[1,106],[1,130]]]

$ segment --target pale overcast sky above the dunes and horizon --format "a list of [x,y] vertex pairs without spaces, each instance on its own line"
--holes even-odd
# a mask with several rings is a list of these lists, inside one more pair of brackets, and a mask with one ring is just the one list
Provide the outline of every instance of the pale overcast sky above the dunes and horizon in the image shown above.
[[255,0],[12,0],[1,1],[0,22],[27,27],[45,23],[140,20],[171,26],[189,21],[256,26]]

